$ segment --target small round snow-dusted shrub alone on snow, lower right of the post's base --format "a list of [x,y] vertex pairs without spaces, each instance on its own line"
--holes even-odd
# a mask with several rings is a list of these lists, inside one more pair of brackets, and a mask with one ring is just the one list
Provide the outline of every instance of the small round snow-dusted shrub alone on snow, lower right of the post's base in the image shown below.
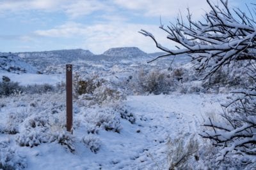
[[89,148],[92,152],[97,153],[100,149],[100,138],[97,136],[86,135],[82,139],[84,145]]

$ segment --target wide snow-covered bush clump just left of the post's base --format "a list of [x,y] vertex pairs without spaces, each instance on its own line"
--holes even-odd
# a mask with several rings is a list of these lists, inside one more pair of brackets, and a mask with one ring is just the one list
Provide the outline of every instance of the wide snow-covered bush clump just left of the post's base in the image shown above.
[[15,141],[19,146],[34,147],[42,143],[60,143],[74,152],[74,136],[66,131],[62,115],[42,113],[27,117],[20,125]]

